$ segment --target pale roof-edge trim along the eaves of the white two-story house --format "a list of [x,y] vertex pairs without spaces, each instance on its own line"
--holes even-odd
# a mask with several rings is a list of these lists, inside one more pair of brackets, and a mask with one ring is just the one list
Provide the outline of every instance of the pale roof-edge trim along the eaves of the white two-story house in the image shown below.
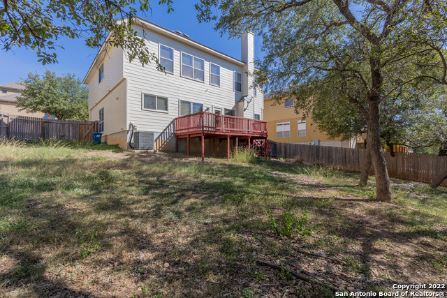
[[[212,47],[208,47],[206,45],[203,45],[202,43],[198,43],[196,40],[192,40],[191,38],[189,38],[189,36],[187,36],[186,34],[180,33],[177,30],[171,31],[169,29],[166,29],[165,27],[161,27],[157,24],[154,24],[153,22],[149,22],[148,20],[145,20],[142,17],[134,17],[134,18],[135,18],[135,20],[138,20],[140,22],[140,24],[144,24],[145,26],[149,27],[149,29],[152,29],[153,31],[156,31],[156,32],[161,33],[165,36],[168,36],[168,37],[173,38],[177,41],[180,41],[186,45],[190,45],[192,47],[198,48],[199,50],[203,50],[210,54],[214,54],[214,56],[217,56],[217,57],[220,57],[221,59],[225,59],[227,61],[233,62],[237,65],[240,65],[240,66],[245,65],[245,63],[243,61],[241,61],[240,59],[236,59],[236,58],[231,57],[227,54],[223,54],[222,52],[219,52],[218,50],[214,50]],[[127,20],[127,18],[124,19],[124,22],[126,22],[126,20]],[[109,33],[109,35],[110,35],[110,33]],[[96,57],[95,57],[93,63],[91,64],[89,71],[87,72],[87,75],[85,75],[84,80],[82,80],[82,82],[84,84],[87,84],[87,82],[86,82],[87,77],[89,77],[91,70],[96,63],[96,59],[98,59],[98,55],[101,53],[101,50],[103,50],[104,45],[105,45],[105,43],[103,43],[103,45],[101,46],[101,49],[99,49],[98,54],[96,54]]]

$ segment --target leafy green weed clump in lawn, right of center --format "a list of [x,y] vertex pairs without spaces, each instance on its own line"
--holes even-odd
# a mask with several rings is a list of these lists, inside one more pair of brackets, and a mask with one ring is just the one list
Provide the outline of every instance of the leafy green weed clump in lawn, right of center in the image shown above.
[[277,218],[269,214],[269,224],[278,236],[292,237],[294,234],[310,236],[312,234],[312,228],[307,227],[307,211],[304,211],[301,216],[293,211],[285,211]]

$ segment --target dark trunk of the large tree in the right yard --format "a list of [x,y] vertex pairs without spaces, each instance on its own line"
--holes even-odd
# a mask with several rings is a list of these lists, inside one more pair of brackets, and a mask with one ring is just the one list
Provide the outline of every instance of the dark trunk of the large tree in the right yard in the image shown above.
[[[374,54],[380,57],[380,48],[373,49]],[[368,143],[371,149],[372,161],[374,163],[374,175],[376,176],[376,200],[391,202],[390,177],[386,169],[385,155],[383,154],[380,136],[380,102],[381,89],[383,86],[383,74],[381,72],[381,61],[372,58],[369,62],[371,70],[372,88],[368,95],[369,117]]]

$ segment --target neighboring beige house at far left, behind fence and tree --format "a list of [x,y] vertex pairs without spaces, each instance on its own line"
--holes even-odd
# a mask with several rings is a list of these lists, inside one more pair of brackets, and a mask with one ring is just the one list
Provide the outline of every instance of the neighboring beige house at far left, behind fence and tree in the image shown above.
[[42,112],[27,113],[20,111],[17,105],[17,96],[20,96],[20,89],[23,85],[17,83],[0,84],[0,111],[8,114],[43,118]]

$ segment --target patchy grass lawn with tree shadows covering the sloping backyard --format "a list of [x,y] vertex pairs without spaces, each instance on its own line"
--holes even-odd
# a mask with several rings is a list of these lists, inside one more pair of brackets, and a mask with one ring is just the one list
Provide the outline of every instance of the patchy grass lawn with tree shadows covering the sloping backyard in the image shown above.
[[357,181],[280,161],[3,142],[0,296],[332,297],[321,283],[445,282],[446,189],[393,179],[387,204],[372,200],[374,179]]

